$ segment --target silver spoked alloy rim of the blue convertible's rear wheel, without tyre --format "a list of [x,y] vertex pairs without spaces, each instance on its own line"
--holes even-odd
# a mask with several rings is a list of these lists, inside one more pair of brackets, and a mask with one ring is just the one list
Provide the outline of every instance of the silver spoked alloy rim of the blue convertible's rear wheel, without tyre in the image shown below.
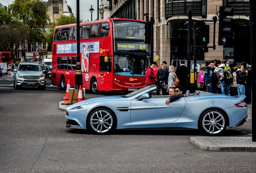
[[226,129],[225,117],[219,111],[206,112],[201,119],[202,127],[208,134],[219,134]]

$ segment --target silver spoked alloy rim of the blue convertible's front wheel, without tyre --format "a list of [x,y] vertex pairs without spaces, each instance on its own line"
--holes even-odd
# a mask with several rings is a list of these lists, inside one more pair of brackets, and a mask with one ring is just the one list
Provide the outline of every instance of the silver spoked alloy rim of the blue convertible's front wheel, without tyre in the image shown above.
[[97,109],[90,117],[90,125],[96,133],[107,133],[114,124],[113,115],[106,109]]

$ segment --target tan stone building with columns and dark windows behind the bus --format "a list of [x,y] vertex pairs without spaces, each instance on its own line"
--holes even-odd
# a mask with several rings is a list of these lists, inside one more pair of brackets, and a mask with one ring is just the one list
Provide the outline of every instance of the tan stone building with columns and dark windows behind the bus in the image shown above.
[[[107,4],[105,4],[107,2]],[[167,61],[170,65],[173,59],[187,59],[188,57],[188,12],[192,12],[192,45],[198,45],[194,30],[198,24],[206,21],[210,26],[209,44],[216,45],[216,49],[192,49],[191,59],[198,60],[229,60],[233,62],[250,62],[250,26],[249,0],[101,0],[100,15],[102,18],[132,18],[149,20],[153,18],[153,50],[154,60],[159,54],[158,64]],[[218,45],[219,6],[233,8],[233,35],[226,38],[225,45]],[[104,16],[106,15],[106,16]],[[215,26],[214,41],[214,20]],[[196,25],[197,27],[193,27]],[[194,29],[194,30],[193,30]],[[195,38],[195,40],[194,40]],[[197,52],[194,54],[194,52]]]

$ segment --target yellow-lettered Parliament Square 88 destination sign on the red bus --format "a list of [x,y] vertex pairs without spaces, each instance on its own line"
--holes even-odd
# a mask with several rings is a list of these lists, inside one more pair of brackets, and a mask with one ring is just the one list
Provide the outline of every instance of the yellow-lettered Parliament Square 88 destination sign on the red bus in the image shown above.
[[126,50],[126,51],[145,51],[147,50],[147,44],[139,43],[117,43],[117,50]]

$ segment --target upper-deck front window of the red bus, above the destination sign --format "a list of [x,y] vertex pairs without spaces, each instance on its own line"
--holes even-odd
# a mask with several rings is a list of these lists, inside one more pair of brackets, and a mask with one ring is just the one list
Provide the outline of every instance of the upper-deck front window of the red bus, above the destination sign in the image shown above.
[[114,20],[114,36],[115,38],[126,39],[145,39],[145,23],[131,22],[125,20]]

